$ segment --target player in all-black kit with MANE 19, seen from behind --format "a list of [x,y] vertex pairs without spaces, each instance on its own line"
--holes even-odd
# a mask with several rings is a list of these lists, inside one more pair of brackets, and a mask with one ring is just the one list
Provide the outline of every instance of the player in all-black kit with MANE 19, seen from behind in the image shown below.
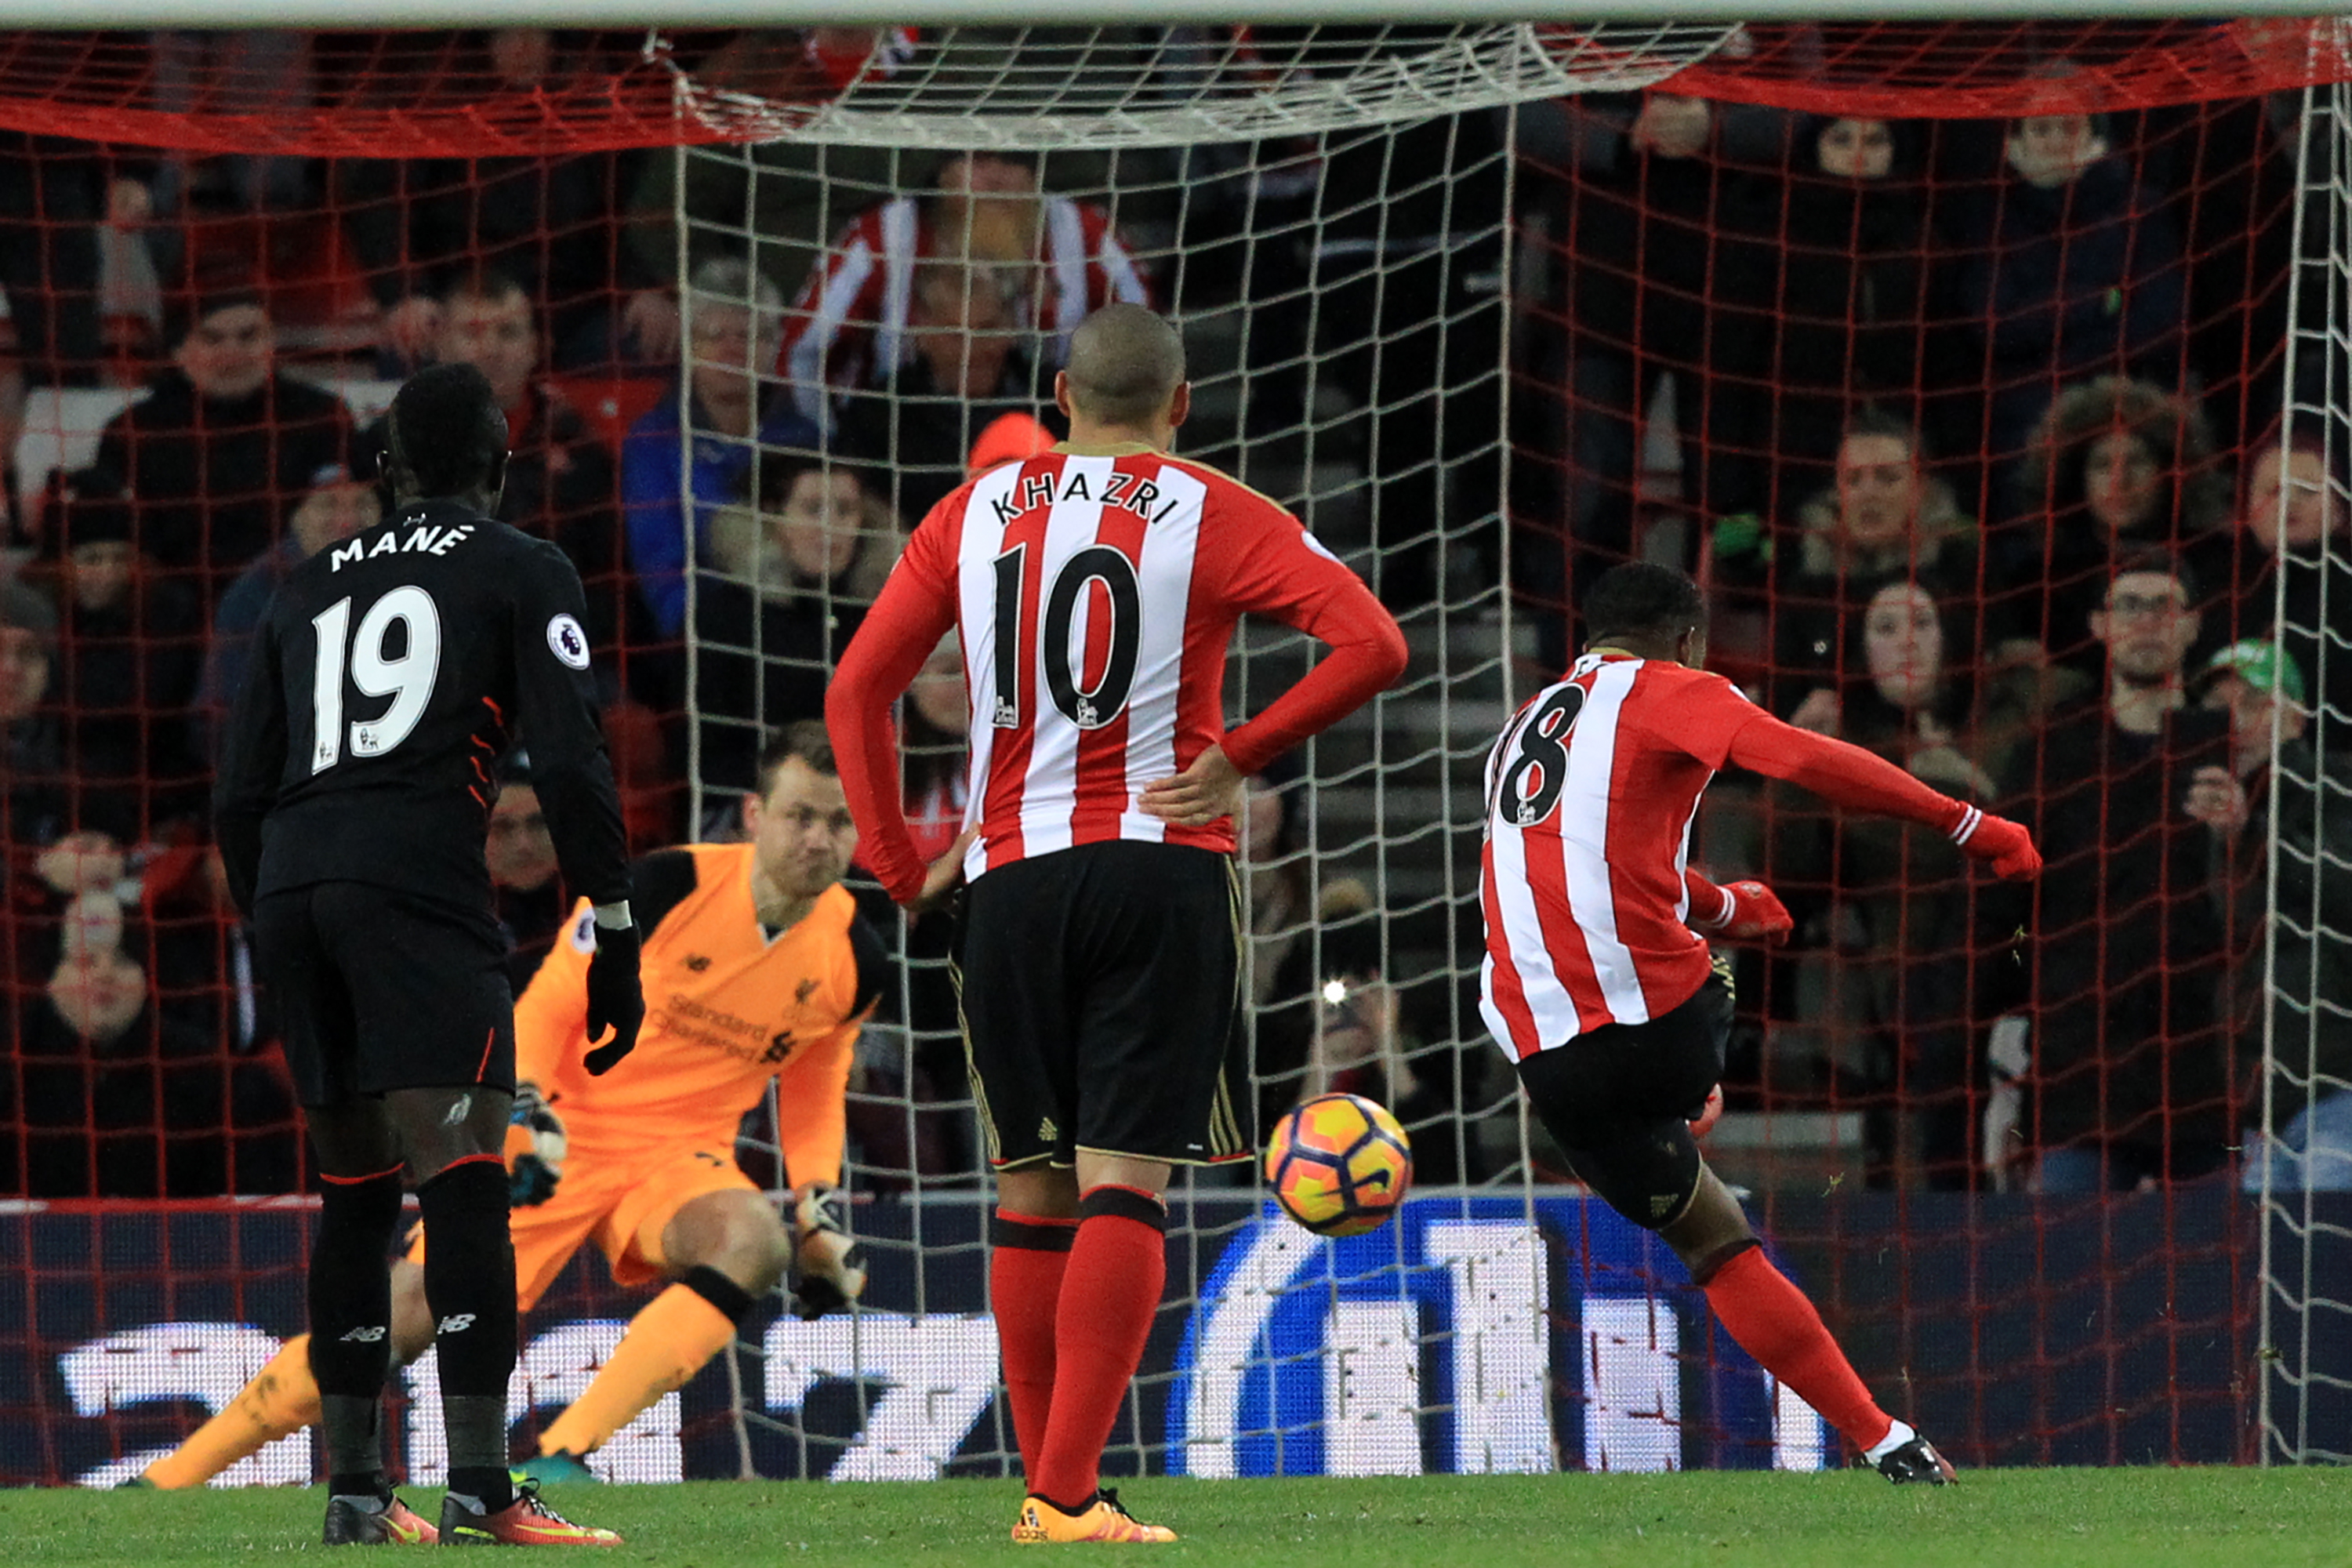
[[[414,376],[386,421],[386,520],[296,567],[254,639],[214,797],[221,858],[280,999],[327,1185],[310,1368],[327,1544],[614,1544],[506,1469],[515,1253],[506,1126],[515,1004],[482,844],[520,733],[564,879],[595,903],[588,1053],[637,1044],[637,929],[597,731],[586,599],[564,555],[494,522],[506,416],[482,371]],[[433,1237],[449,1495],[440,1530],[393,1497],[379,1415],[402,1168]]]

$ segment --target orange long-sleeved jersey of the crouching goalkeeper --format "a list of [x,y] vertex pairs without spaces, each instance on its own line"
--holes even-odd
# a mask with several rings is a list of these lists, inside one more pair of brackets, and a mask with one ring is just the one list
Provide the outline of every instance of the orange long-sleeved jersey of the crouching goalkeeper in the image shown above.
[[840,884],[771,938],[750,867],[750,844],[663,849],[635,865],[644,1032],[609,1074],[581,1065],[595,952],[586,900],[522,992],[515,1077],[564,1119],[572,1159],[734,1150],[736,1124],[776,1079],[790,1180],[842,1180],[842,1095],[858,1023],[882,992],[882,943]]

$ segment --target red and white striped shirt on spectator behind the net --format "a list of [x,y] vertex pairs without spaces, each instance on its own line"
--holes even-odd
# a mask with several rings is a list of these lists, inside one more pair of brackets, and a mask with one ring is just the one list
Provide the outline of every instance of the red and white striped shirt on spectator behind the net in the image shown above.
[[[1040,195],[1042,277],[1035,294],[1011,308],[1023,331],[1044,336],[1042,364],[1070,353],[1070,334],[1112,301],[1150,306],[1150,280],[1136,254],[1110,228],[1110,214],[1065,195]],[[908,315],[915,268],[938,256],[938,235],[924,200],[901,195],[858,214],[809,273],[783,327],[776,369],[793,383],[800,411],[821,428],[833,418],[833,395],[870,386],[915,357]]]

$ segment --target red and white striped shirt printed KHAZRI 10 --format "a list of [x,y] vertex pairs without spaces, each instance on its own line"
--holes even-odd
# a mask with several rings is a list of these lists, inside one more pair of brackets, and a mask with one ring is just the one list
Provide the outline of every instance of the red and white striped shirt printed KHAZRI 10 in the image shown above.
[[[1265,712],[1225,733],[1225,644],[1244,614],[1331,644]],[[981,832],[964,875],[1138,839],[1232,851],[1232,820],[1178,827],[1141,790],[1211,745],[1256,773],[1404,670],[1404,635],[1296,517],[1150,447],[1056,447],[971,480],[922,520],[842,654],[826,722],[866,863],[913,898],[889,705],[955,625],[971,705]]]

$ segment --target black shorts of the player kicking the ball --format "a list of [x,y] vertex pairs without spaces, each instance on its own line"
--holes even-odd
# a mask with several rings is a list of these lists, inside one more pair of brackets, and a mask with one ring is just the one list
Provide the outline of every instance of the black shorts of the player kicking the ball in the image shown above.
[[1635,1225],[1663,1229],[1698,1192],[1689,1119],[1724,1077],[1729,1039],[1731,976],[1717,961],[1682,1006],[1524,1058],[1519,1084],[1576,1178]]

